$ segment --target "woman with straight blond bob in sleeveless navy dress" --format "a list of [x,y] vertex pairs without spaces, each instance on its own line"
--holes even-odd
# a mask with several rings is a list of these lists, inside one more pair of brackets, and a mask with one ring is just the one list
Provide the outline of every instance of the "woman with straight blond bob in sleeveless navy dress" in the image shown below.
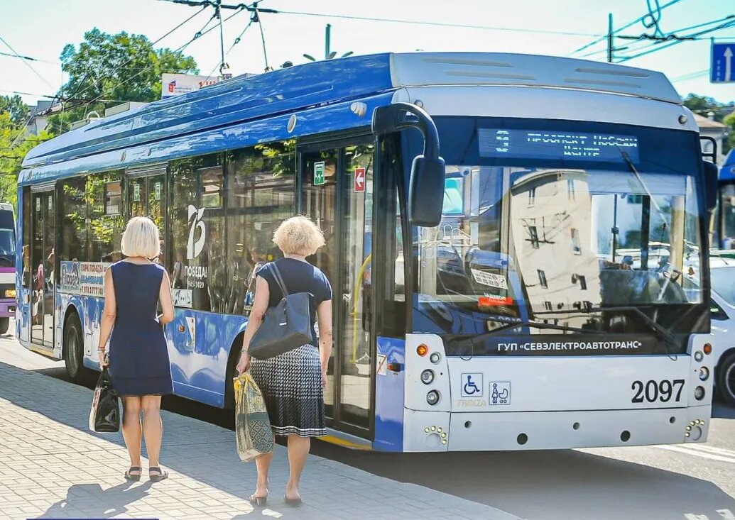
[[[104,275],[99,358],[103,366],[109,364],[112,386],[123,400],[123,438],[130,455],[125,477],[140,480],[140,442],[145,436],[148,477],[157,482],[168,477],[158,457],[163,437],[161,396],[173,391],[163,332],[163,325],[173,319],[171,281],[165,268],[150,260],[160,253],[158,228],[152,220],[130,219],[122,250],[127,258],[112,264]],[[159,302],[163,314],[157,316]],[[105,353],[108,338],[109,357]]]

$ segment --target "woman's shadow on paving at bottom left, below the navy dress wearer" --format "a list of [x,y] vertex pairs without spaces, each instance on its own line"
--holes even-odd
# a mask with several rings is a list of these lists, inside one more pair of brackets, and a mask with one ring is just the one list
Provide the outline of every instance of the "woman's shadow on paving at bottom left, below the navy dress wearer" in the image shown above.
[[109,519],[127,512],[126,505],[142,499],[151,488],[150,481],[142,485],[132,483],[102,489],[99,484],[75,484],[66,492],[66,498],[51,505],[37,518],[69,518],[83,515],[87,518]]

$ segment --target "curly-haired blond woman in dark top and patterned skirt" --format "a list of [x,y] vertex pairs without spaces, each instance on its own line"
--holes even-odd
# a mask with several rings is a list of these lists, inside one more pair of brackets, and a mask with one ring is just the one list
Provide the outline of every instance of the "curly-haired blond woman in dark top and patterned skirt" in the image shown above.
[[[312,342],[274,358],[250,358],[248,347],[268,308],[284,297],[270,264],[257,272],[255,300],[243,338],[243,353],[237,364],[242,374],[250,369],[262,391],[274,436],[288,437],[290,477],[286,485],[287,505],[301,504],[299,482],[309,455],[312,437],[326,435],[324,389],[331,355],[331,286],[323,272],[306,261],[324,245],[320,229],[306,217],[285,220],[273,234],[273,242],[284,253],[275,264],[290,293],[309,292]],[[319,323],[319,338],[314,325]],[[265,505],[268,498],[268,469],[273,453],[256,459],[258,483],[251,502]]]

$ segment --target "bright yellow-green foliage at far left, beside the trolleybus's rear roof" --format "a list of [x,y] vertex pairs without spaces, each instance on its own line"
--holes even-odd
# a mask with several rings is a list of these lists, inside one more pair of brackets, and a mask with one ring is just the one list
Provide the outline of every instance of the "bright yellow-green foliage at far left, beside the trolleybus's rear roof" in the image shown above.
[[40,142],[49,140],[46,132],[26,135],[21,123],[15,123],[10,112],[0,113],[0,201],[15,206],[18,199],[18,173],[28,151]]

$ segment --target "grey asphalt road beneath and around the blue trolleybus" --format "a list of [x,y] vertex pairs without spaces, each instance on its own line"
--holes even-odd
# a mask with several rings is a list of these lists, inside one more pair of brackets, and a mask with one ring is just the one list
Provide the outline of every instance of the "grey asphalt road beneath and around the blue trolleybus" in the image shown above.
[[[9,335],[0,361],[66,379],[62,362]],[[164,408],[232,427],[229,414],[196,402],[166,397]],[[735,408],[716,403],[713,415],[709,441],[686,446],[395,455],[316,442],[312,452],[528,520],[735,520]]]

